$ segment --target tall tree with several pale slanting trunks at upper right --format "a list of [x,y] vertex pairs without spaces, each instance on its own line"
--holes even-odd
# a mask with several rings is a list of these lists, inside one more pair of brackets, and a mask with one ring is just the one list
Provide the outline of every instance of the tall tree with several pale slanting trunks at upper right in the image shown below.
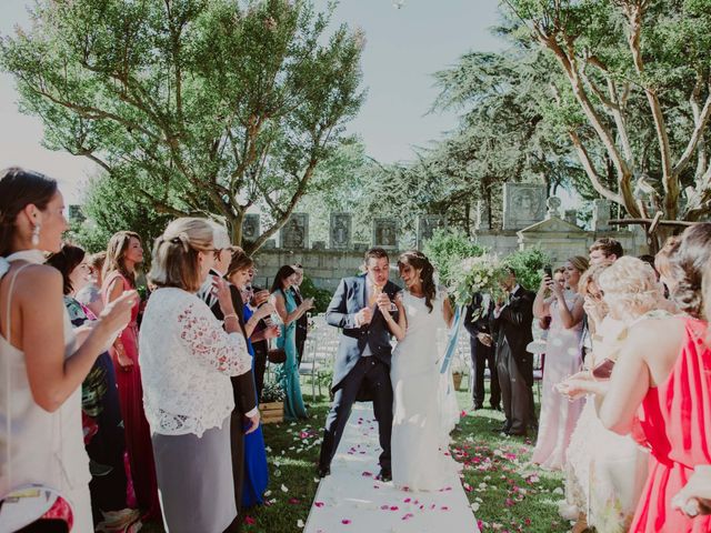
[[507,4],[563,74],[553,87],[558,114],[595,191],[632,218],[707,217],[711,2]]

